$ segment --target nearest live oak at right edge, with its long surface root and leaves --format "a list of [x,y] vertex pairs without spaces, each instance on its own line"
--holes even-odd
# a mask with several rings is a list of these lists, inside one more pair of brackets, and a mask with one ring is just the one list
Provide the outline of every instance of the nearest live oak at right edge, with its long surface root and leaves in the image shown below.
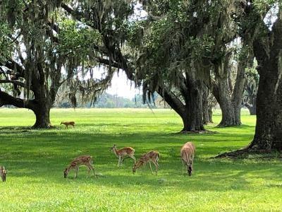
[[[281,1],[250,1],[245,5],[245,24],[255,30],[253,50],[257,59],[257,123],[247,148],[218,157],[242,153],[282,151],[282,4]],[[270,24],[264,23],[271,11]],[[276,15],[275,15],[276,14]]]

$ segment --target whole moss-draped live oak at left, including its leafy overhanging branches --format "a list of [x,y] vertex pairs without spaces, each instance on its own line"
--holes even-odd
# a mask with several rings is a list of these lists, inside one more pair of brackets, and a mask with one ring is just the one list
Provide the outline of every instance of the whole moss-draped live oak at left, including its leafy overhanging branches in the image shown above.
[[[94,78],[93,49],[99,33],[68,21],[59,10],[62,1],[2,1],[0,8],[1,54],[0,106],[14,105],[32,110],[34,128],[48,128],[50,109],[63,84],[75,106],[75,93],[94,100],[111,80],[108,71]],[[78,24],[75,28],[73,25]]]

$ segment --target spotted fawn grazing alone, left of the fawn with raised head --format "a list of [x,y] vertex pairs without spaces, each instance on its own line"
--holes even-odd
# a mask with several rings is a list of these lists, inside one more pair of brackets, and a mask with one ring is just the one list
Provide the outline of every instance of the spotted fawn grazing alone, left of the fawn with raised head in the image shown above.
[[78,169],[80,165],[85,165],[88,167],[88,175],[90,174],[90,170],[93,171],[94,176],[96,177],[95,170],[93,167],[93,159],[90,155],[82,155],[79,156],[78,158],[75,158],[69,167],[66,167],[66,170],[63,171],[63,176],[66,178],[68,176],[68,172],[70,170],[75,170],[75,177],[78,177]]

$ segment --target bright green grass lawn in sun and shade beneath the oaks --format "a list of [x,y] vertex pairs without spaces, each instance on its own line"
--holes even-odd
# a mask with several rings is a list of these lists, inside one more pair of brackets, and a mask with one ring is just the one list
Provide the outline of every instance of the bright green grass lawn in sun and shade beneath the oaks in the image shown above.
[[[220,121],[219,113],[214,121]],[[176,134],[181,120],[171,110],[51,110],[51,122],[74,120],[75,129],[23,130],[34,115],[0,109],[0,164],[9,173],[0,182],[0,211],[282,211],[279,159],[213,160],[211,156],[246,146],[255,117],[243,112],[243,126],[216,128],[216,134]],[[180,147],[193,141],[195,172],[181,175]],[[135,156],[161,154],[159,175],[149,165],[132,174],[133,161],[117,167],[109,148],[132,146]],[[63,178],[78,155],[94,157],[103,177]]]

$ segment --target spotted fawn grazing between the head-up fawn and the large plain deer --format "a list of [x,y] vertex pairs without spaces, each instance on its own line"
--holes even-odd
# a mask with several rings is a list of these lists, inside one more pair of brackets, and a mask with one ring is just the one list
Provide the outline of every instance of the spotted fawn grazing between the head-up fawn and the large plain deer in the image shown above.
[[137,163],[133,165],[133,175],[135,174],[137,168],[140,168],[142,165],[145,165],[149,162],[151,172],[153,174],[151,162],[154,163],[156,167],[156,174],[158,175],[158,168],[159,168],[159,153],[157,151],[150,151],[149,153],[145,153],[141,156],[139,160],[137,160]]

